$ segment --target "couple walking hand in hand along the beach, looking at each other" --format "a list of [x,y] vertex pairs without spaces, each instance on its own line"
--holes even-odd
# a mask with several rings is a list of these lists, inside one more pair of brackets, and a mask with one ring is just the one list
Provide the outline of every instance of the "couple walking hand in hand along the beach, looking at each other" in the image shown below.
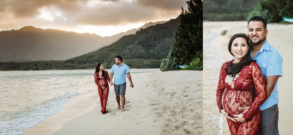
[[[124,105],[125,105],[125,90],[126,90],[126,80],[125,76],[127,75],[128,80],[130,81],[130,87],[133,88],[133,83],[130,76],[130,69],[129,67],[122,62],[121,56],[115,57],[115,64],[112,66],[110,71],[110,77],[106,70],[103,70],[104,66],[102,63],[98,63],[95,71],[95,83],[98,86],[98,93],[100,95],[100,101],[101,101],[101,112],[103,114],[107,113],[106,111],[106,105],[109,95],[109,85],[114,85],[114,90],[116,94],[116,100],[118,103],[118,110],[121,109],[121,111],[125,111]],[[112,82],[112,78],[114,75],[114,83]],[[120,105],[120,96],[121,96],[121,105]]]

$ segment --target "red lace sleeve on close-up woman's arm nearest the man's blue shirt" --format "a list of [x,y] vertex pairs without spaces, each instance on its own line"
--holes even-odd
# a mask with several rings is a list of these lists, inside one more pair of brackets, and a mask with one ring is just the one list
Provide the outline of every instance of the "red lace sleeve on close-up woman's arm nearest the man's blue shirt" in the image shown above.
[[260,105],[265,102],[267,97],[267,90],[265,87],[265,79],[263,78],[263,74],[260,70],[260,67],[257,63],[252,65],[251,76],[255,87],[255,99],[252,102],[251,107],[248,109],[248,112],[243,115],[245,120],[249,119],[251,116],[255,114],[255,112],[259,109]]

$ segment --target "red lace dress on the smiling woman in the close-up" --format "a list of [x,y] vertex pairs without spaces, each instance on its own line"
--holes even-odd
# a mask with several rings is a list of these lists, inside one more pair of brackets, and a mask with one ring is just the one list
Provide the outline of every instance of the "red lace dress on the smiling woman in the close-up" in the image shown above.
[[[234,61],[234,60],[232,60]],[[228,61],[228,62],[232,62]],[[260,105],[265,102],[267,93],[265,88],[265,80],[260,67],[256,62],[252,62],[250,65],[243,66],[239,72],[239,77],[235,76],[232,84],[234,87],[228,85],[225,81],[227,67],[227,62],[222,66],[219,83],[217,88],[217,104],[219,110],[223,109],[221,104],[221,98],[224,88],[227,88],[226,94],[224,96],[224,110],[229,114],[230,117],[233,115],[238,115],[243,112],[243,110],[238,109],[238,107],[251,106],[243,115],[245,122],[234,122],[227,118],[229,129],[231,135],[254,135],[258,133],[258,127],[260,123]],[[228,76],[229,77],[229,76]],[[236,78],[237,77],[237,78]],[[255,88],[255,98],[254,97]]]

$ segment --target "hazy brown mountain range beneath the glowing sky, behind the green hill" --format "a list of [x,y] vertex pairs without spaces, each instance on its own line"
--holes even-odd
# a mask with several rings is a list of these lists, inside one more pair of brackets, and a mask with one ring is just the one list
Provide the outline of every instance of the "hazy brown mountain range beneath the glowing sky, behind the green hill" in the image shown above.
[[[146,23],[146,28],[158,23]],[[66,60],[116,42],[119,38],[134,34],[132,29],[111,37],[96,34],[75,33],[53,29],[25,26],[19,30],[0,32],[0,62],[26,62],[42,60]]]

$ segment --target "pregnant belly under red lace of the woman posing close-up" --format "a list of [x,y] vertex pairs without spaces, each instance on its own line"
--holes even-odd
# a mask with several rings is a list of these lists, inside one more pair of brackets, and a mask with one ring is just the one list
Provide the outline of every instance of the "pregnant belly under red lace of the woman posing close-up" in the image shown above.
[[251,91],[227,90],[223,105],[224,110],[230,117],[233,117],[233,115],[238,115],[243,112],[238,107],[251,106],[252,102]]

